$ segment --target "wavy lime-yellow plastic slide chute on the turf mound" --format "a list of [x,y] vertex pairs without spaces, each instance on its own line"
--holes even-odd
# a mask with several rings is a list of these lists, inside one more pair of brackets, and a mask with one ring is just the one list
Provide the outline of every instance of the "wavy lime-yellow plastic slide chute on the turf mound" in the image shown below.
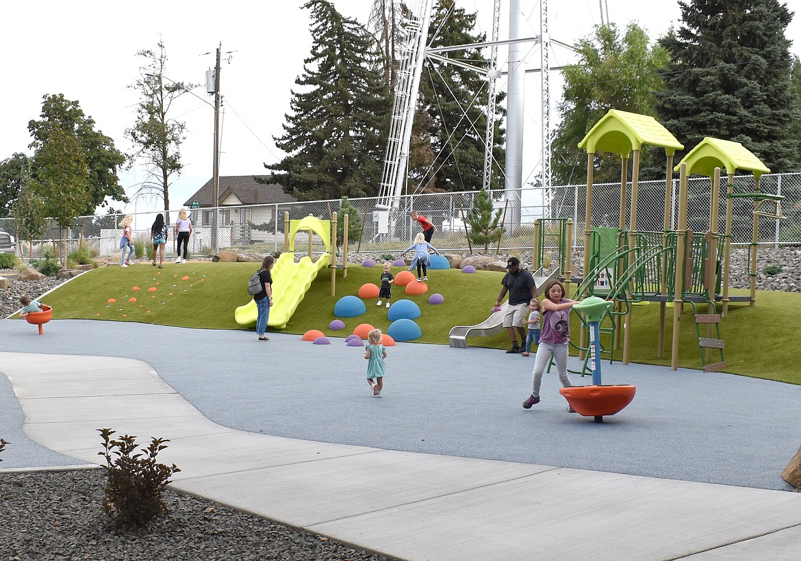
[[[308,287],[316,278],[320,269],[328,266],[330,254],[322,254],[316,262],[308,256],[295,262],[295,254],[291,252],[282,253],[272,267],[272,307],[270,308],[270,318],[268,326],[276,329],[284,329],[292,314],[295,313],[298,305],[304,299]],[[256,301],[251,300],[244,306],[239,306],[234,311],[236,323],[244,326],[256,324]]]

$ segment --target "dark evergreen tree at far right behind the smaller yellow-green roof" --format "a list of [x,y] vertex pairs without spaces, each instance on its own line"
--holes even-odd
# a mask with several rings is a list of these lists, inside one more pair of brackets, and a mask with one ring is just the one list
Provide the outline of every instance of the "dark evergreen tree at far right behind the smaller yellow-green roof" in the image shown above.
[[679,2],[682,22],[660,39],[672,62],[658,93],[662,124],[692,149],[705,136],[740,142],[773,172],[799,169],[801,118],[779,0]]

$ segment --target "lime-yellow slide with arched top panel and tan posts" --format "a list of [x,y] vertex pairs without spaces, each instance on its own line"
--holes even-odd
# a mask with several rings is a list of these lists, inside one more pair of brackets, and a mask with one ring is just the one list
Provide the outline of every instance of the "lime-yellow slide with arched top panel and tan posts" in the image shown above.
[[[301,231],[308,231],[308,254],[295,262],[295,237]],[[316,261],[312,261],[312,236],[317,234],[325,246],[325,253],[320,254]],[[343,254],[348,254],[348,215],[344,215],[344,240],[345,250]],[[312,281],[317,277],[320,270],[326,267],[332,269],[331,276],[331,295],[334,295],[336,287],[336,253],[332,252],[332,245],[336,246],[336,213],[333,213],[333,220],[320,220],[312,215],[301,218],[300,220],[290,220],[289,214],[284,214],[284,247],[289,250],[282,253],[276,264],[272,267],[272,307],[268,319],[269,327],[283,329],[292,314],[295,313],[298,305],[303,301],[306,291],[312,285]],[[347,257],[343,261],[343,274],[347,276]],[[244,306],[239,306],[234,311],[234,319],[239,325],[253,325],[256,323],[258,312],[256,301],[251,300]]]

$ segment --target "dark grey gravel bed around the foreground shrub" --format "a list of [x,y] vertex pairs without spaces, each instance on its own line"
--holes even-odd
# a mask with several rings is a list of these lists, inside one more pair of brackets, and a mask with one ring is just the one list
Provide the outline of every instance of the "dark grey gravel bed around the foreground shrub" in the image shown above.
[[388,559],[167,490],[170,514],[118,533],[101,510],[103,470],[0,473],[0,559]]

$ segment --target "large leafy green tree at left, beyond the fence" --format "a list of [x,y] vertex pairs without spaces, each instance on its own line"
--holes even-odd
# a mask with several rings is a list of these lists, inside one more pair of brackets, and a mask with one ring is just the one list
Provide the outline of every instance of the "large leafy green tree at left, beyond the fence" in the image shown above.
[[[37,163],[37,159],[42,162],[42,158],[38,158],[38,153],[50,142],[51,137],[56,135],[59,138],[50,144],[50,148],[64,147],[69,143],[70,149],[74,148],[75,153],[80,154],[78,160],[74,162],[76,166],[74,171],[77,172],[79,166],[86,166],[87,170],[85,183],[80,187],[82,192],[87,191],[88,196],[85,198],[83,208],[75,207],[77,213],[75,216],[94,214],[96,207],[106,206],[106,198],[128,202],[117,176],[119,168],[125,163],[125,156],[115,148],[114,140],[102,131],[95,130],[95,119],[87,117],[77,101],[64,98],[64,94],[45,95],[42,99],[44,101],[41,120],[28,122],[28,130],[33,137],[29,147],[36,152],[34,166],[31,169],[34,179],[38,179],[42,173],[49,173],[42,170]],[[68,141],[64,135],[74,138],[75,142]],[[66,172],[66,169],[62,169],[60,173]]]

